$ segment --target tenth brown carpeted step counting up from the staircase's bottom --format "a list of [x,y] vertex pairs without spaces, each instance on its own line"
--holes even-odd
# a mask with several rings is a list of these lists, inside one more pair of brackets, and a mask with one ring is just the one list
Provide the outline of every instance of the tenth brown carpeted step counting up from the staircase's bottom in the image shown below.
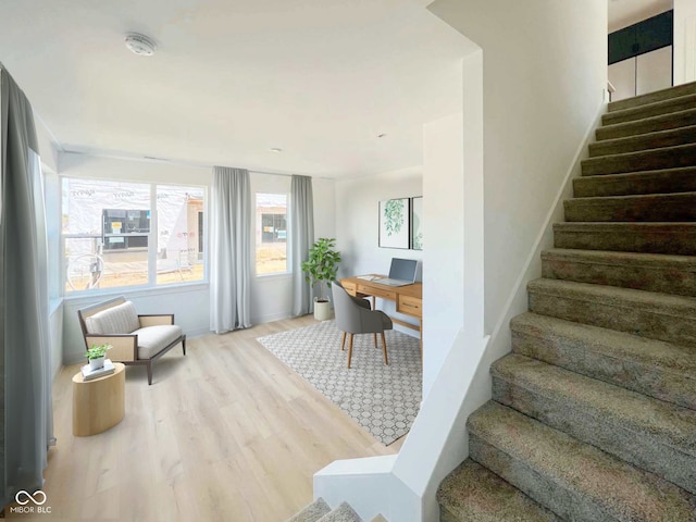
[[696,144],[639,150],[622,154],[599,156],[581,162],[583,176],[679,169],[695,164]]

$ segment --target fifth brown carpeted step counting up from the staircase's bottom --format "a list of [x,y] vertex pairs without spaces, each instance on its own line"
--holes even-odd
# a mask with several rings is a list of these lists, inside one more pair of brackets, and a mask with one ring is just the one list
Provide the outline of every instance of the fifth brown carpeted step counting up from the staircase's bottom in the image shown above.
[[629,332],[696,353],[696,299],[669,294],[539,278],[527,284],[530,310]]

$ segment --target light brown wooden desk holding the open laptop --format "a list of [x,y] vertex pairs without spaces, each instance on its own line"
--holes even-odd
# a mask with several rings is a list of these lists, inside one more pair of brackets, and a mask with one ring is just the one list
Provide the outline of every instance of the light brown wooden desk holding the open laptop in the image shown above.
[[[370,274],[375,277],[386,277],[386,275]],[[374,281],[361,279],[358,276],[345,277],[340,284],[346,291],[355,297],[372,297],[372,309],[374,310],[374,298],[381,297],[388,301],[396,302],[396,311],[418,319],[418,324],[407,323],[399,319],[391,318],[391,321],[408,328],[418,330],[421,334],[421,345],[423,343],[423,283],[413,283],[406,286],[381,285]]]

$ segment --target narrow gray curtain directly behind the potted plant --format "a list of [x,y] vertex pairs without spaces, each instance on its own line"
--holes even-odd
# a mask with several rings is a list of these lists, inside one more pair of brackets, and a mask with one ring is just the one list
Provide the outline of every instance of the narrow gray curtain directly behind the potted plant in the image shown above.
[[290,252],[293,256],[293,315],[311,313],[312,288],[304,279],[302,262],[314,243],[314,198],[312,178],[293,176],[290,184]]

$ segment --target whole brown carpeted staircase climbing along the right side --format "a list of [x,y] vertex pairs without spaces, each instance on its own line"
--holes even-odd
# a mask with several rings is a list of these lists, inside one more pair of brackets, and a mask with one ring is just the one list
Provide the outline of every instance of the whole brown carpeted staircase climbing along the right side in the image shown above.
[[696,83],[596,138],[443,522],[696,521]]

